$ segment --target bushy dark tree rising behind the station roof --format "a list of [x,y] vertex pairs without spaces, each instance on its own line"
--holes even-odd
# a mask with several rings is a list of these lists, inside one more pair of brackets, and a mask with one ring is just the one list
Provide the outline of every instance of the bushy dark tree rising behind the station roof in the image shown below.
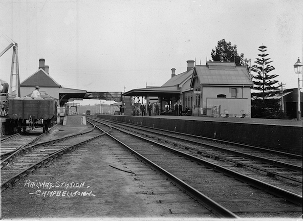
[[213,61],[235,62],[237,66],[244,66],[244,54],[238,55],[237,45],[226,42],[225,39],[218,41],[218,45],[212,49]]

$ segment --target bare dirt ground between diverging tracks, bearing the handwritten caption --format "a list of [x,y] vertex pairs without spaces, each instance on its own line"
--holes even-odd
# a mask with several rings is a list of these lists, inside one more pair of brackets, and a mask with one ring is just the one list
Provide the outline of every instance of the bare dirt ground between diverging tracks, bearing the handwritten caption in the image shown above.
[[[163,199],[190,198],[140,161],[124,159],[125,151],[120,149],[110,141],[95,140],[26,176],[12,189],[2,192],[1,218],[157,220],[201,216],[172,214],[171,211],[200,205],[194,200],[160,203]],[[156,184],[152,184],[153,179]],[[175,193],[153,194],[157,191]]]

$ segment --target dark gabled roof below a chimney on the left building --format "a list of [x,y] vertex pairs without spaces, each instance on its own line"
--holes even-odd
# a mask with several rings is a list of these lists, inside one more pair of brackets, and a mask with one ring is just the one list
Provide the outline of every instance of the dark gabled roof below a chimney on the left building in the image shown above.
[[26,78],[20,84],[20,87],[46,87],[46,88],[61,88],[59,85],[45,70],[40,68],[31,76]]

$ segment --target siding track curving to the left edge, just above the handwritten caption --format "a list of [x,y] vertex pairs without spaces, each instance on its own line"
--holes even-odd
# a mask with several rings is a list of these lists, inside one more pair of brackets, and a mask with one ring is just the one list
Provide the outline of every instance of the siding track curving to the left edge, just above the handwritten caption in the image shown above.
[[[11,187],[26,175],[40,167],[45,167],[57,157],[85,144],[102,135],[95,127],[87,132],[81,132],[51,139],[33,145],[24,145],[1,160],[1,192]],[[17,139],[17,138],[16,138]]]

